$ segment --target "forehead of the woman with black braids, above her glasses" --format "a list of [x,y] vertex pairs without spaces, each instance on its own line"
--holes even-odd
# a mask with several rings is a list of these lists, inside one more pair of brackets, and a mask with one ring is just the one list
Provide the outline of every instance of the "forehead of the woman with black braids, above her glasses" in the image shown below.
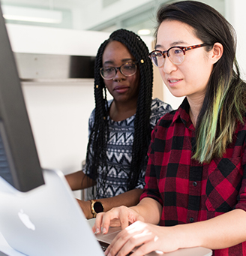
[[130,51],[127,47],[118,41],[112,41],[107,44],[103,54],[103,63],[104,62],[124,62],[127,59],[134,59],[130,54]]

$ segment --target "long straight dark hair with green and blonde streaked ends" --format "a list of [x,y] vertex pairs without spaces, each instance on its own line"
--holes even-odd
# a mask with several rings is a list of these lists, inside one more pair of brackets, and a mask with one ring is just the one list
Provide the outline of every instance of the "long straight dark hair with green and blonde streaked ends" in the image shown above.
[[157,30],[164,20],[177,20],[193,28],[197,38],[210,45],[223,45],[223,56],[214,64],[202,109],[196,122],[196,153],[201,163],[222,157],[233,140],[237,121],[245,116],[245,82],[236,62],[236,33],[214,8],[202,2],[183,1],[160,7]]

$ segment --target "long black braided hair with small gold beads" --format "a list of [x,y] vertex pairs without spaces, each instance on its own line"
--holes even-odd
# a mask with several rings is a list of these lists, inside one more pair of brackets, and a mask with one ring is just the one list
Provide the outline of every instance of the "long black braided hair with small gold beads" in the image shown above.
[[[102,57],[104,50],[111,41],[119,41],[124,44],[136,59],[140,74],[139,95],[137,100],[136,115],[134,121],[134,139],[132,148],[132,161],[128,176],[127,190],[133,189],[139,179],[139,173],[143,167],[145,155],[150,142],[151,128],[149,118],[151,114],[151,98],[153,86],[153,68],[148,58],[148,48],[145,43],[133,32],[126,29],[118,29],[110,35],[107,41],[101,44],[95,59],[95,124],[89,137],[86,155],[86,168],[91,168],[92,176],[98,177],[98,167],[101,164],[103,179],[107,178],[107,137],[109,106],[107,104],[106,87],[101,77],[100,68],[103,66]],[[103,182],[104,183],[104,182]],[[104,184],[99,189],[103,189]],[[97,191],[98,192],[98,191]]]

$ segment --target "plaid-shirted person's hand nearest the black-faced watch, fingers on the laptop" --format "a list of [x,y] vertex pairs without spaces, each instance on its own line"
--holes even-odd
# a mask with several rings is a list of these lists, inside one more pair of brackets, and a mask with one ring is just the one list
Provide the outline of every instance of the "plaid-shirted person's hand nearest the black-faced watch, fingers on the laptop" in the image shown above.
[[109,227],[121,227],[123,230],[135,221],[144,221],[144,218],[134,210],[134,206],[132,208],[120,206],[108,212],[98,213],[92,230],[94,233],[101,233],[101,230],[107,233]]

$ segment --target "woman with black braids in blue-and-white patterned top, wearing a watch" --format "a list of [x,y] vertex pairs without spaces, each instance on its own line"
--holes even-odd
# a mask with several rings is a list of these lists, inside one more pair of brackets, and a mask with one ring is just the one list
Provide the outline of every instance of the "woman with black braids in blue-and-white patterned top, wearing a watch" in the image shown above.
[[[119,29],[95,59],[95,110],[89,119],[86,167],[66,176],[73,190],[96,185],[93,200],[78,200],[86,218],[139,202],[151,130],[172,108],[152,100],[153,71],[138,35]],[[113,96],[107,101],[106,89]]]

